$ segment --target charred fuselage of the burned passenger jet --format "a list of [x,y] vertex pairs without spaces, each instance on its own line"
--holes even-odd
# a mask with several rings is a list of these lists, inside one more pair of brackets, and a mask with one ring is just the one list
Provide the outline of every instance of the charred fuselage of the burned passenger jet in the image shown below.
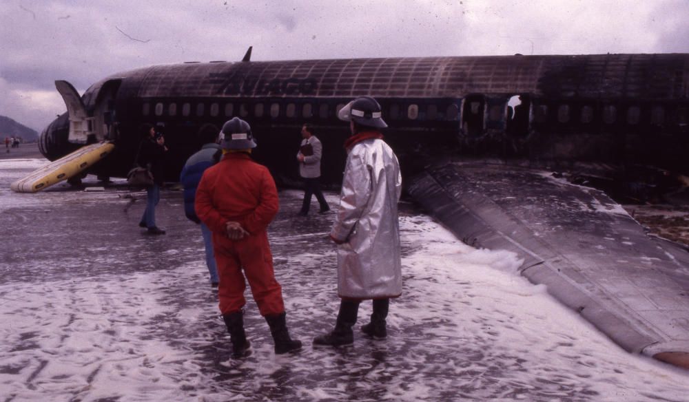
[[[299,128],[313,124],[324,145],[324,180],[338,182],[349,132],[336,112],[362,95],[379,100],[386,138],[407,175],[444,153],[689,173],[689,54],[183,63],[114,74],[81,100],[90,141],[116,143],[92,173],[124,176],[143,125],[163,123],[167,179],[176,180],[200,147],[198,133],[240,116],[258,138],[256,158],[287,182],[298,176]],[[517,95],[521,123],[508,118]],[[76,148],[65,135],[69,125],[63,115],[43,131],[46,158]]]

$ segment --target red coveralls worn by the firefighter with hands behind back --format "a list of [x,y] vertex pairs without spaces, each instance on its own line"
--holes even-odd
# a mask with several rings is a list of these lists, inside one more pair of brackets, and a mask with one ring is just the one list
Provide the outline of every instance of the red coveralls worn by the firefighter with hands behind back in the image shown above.
[[[279,205],[273,176],[247,154],[226,154],[203,172],[196,190],[195,209],[198,218],[213,232],[220,277],[218,299],[223,314],[233,313],[245,304],[242,270],[261,315],[285,311],[266,232]],[[229,240],[225,229],[229,221],[240,222],[250,235]]]

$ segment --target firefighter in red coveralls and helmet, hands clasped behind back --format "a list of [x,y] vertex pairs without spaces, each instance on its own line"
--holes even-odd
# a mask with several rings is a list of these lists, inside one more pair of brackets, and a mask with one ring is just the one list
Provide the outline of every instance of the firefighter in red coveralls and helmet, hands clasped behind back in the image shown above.
[[196,190],[198,218],[213,232],[218,266],[218,299],[235,358],[248,356],[244,331],[245,277],[260,315],[270,327],[275,352],[301,348],[292,340],[285,322],[282,288],[275,279],[267,227],[278,213],[278,191],[270,172],[251,160],[256,147],[251,127],[232,118],[220,132],[223,159],[203,172]]

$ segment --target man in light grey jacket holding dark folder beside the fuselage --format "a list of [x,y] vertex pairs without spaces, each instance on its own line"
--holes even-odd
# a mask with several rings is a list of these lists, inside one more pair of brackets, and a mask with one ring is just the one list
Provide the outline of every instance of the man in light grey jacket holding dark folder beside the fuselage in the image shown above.
[[330,211],[328,203],[320,191],[320,159],[322,157],[323,146],[320,140],[313,135],[313,126],[305,124],[301,130],[302,142],[297,153],[299,161],[299,174],[304,179],[304,202],[302,202],[300,216],[309,214],[311,206],[311,195],[316,195],[316,200],[320,205],[320,213]]

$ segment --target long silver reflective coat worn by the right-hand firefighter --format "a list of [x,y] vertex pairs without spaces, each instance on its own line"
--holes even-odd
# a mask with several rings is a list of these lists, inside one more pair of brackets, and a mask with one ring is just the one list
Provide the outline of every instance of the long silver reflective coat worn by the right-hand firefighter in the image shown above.
[[331,236],[338,245],[338,294],[351,299],[402,294],[400,165],[379,139],[353,145],[342,179],[340,208]]

